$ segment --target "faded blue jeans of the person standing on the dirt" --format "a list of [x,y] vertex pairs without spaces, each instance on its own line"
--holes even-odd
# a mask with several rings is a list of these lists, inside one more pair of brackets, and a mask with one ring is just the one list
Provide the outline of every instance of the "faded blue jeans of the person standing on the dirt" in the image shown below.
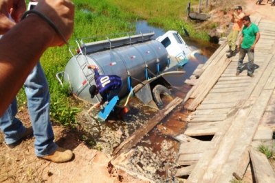
[[[50,122],[50,93],[47,79],[38,63],[27,80],[25,80],[25,93],[28,99],[28,110],[34,130],[34,149],[36,156],[47,156],[56,151],[54,132]],[[0,118],[0,127],[5,134],[5,143],[11,144],[20,140],[25,127],[15,117],[17,114],[17,99],[14,99]]]

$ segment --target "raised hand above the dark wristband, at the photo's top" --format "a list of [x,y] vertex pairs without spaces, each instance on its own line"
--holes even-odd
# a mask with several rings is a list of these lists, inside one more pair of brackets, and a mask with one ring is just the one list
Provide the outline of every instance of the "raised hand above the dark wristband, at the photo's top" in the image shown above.
[[[61,31],[65,39],[69,39],[74,29],[74,3],[72,1],[39,0],[35,10],[47,16]],[[64,45],[63,39],[54,32],[54,29],[52,30],[54,37],[50,42],[50,47]]]

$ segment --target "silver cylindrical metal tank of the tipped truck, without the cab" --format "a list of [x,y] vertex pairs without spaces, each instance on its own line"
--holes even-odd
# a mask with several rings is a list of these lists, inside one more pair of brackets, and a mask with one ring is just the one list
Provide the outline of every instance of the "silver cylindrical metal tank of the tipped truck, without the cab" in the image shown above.
[[152,77],[151,72],[156,75],[157,70],[164,71],[169,62],[165,47],[157,40],[151,39],[133,45],[74,56],[67,63],[64,80],[69,82],[73,93],[80,99],[97,103],[101,99],[100,95],[91,99],[89,94],[89,86],[96,83],[94,71],[87,69],[88,64],[96,65],[102,75],[119,75],[122,78],[122,89],[119,93],[121,98],[129,93],[129,75],[132,78],[131,86],[134,87],[140,83],[139,81],[146,80],[146,66],[149,70],[148,75]]

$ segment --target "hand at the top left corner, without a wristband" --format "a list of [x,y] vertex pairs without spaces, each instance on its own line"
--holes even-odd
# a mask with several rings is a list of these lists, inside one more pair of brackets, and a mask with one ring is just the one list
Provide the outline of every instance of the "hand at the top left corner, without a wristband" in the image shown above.
[[[0,34],[5,34],[20,21],[26,10],[25,0],[1,0],[0,1]],[[15,21],[9,18],[9,15]]]

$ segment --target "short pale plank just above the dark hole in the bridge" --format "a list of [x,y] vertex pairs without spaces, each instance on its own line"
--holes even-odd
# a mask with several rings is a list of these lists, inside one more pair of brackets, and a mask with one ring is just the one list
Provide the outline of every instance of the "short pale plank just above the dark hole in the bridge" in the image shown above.
[[188,123],[184,134],[188,136],[214,135],[219,130],[221,124],[222,122]]

